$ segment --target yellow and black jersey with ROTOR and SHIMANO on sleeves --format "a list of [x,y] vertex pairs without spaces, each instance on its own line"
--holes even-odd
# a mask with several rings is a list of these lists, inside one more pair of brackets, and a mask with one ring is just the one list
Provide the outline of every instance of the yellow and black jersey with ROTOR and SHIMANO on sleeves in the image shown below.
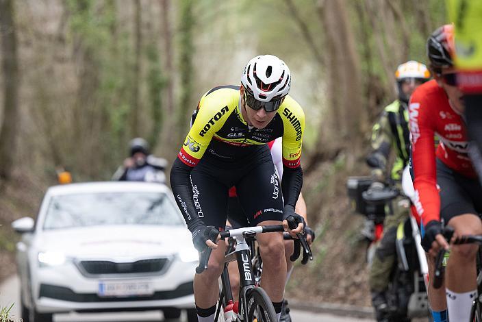
[[274,119],[263,129],[249,127],[240,105],[239,86],[218,86],[203,95],[179,159],[195,166],[208,150],[219,160],[239,160],[257,147],[283,137],[283,164],[298,167],[305,129],[305,114],[299,103],[287,95]]

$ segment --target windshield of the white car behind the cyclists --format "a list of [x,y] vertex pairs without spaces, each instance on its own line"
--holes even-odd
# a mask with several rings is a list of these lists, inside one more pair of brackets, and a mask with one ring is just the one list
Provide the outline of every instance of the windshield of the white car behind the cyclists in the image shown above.
[[81,193],[53,197],[44,229],[97,225],[182,225],[165,193]]

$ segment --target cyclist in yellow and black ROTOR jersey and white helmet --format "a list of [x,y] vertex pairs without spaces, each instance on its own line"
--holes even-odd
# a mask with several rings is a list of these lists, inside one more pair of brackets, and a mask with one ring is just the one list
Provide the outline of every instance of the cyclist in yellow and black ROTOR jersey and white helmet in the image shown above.
[[[276,225],[288,229],[287,218],[303,232],[303,218],[294,212],[303,184],[300,165],[305,127],[303,110],[288,96],[288,66],[273,55],[261,55],[246,65],[242,86],[219,86],[199,101],[192,127],[173,163],[170,183],[175,199],[199,251],[214,249],[208,269],[194,277],[198,319],[214,321],[218,277],[223,271],[225,243],[218,230],[225,228],[229,188],[251,225]],[[266,143],[282,137],[281,187]],[[281,194],[282,193],[282,194]],[[281,233],[258,236],[263,256],[262,286],[281,312],[286,260]]]

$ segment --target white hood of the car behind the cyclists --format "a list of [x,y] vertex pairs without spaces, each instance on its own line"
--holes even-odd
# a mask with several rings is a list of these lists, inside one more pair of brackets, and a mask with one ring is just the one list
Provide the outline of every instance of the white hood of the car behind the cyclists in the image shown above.
[[36,236],[38,251],[61,252],[71,258],[131,261],[172,256],[192,249],[184,226],[101,226],[44,231]]

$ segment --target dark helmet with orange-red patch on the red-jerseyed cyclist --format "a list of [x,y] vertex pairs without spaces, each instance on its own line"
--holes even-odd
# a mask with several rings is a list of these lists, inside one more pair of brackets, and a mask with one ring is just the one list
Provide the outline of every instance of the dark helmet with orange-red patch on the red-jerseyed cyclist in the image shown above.
[[440,69],[452,67],[453,49],[453,25],[443,25],[437,28],[427,40],[427,55],[431,68],[440,73]]

